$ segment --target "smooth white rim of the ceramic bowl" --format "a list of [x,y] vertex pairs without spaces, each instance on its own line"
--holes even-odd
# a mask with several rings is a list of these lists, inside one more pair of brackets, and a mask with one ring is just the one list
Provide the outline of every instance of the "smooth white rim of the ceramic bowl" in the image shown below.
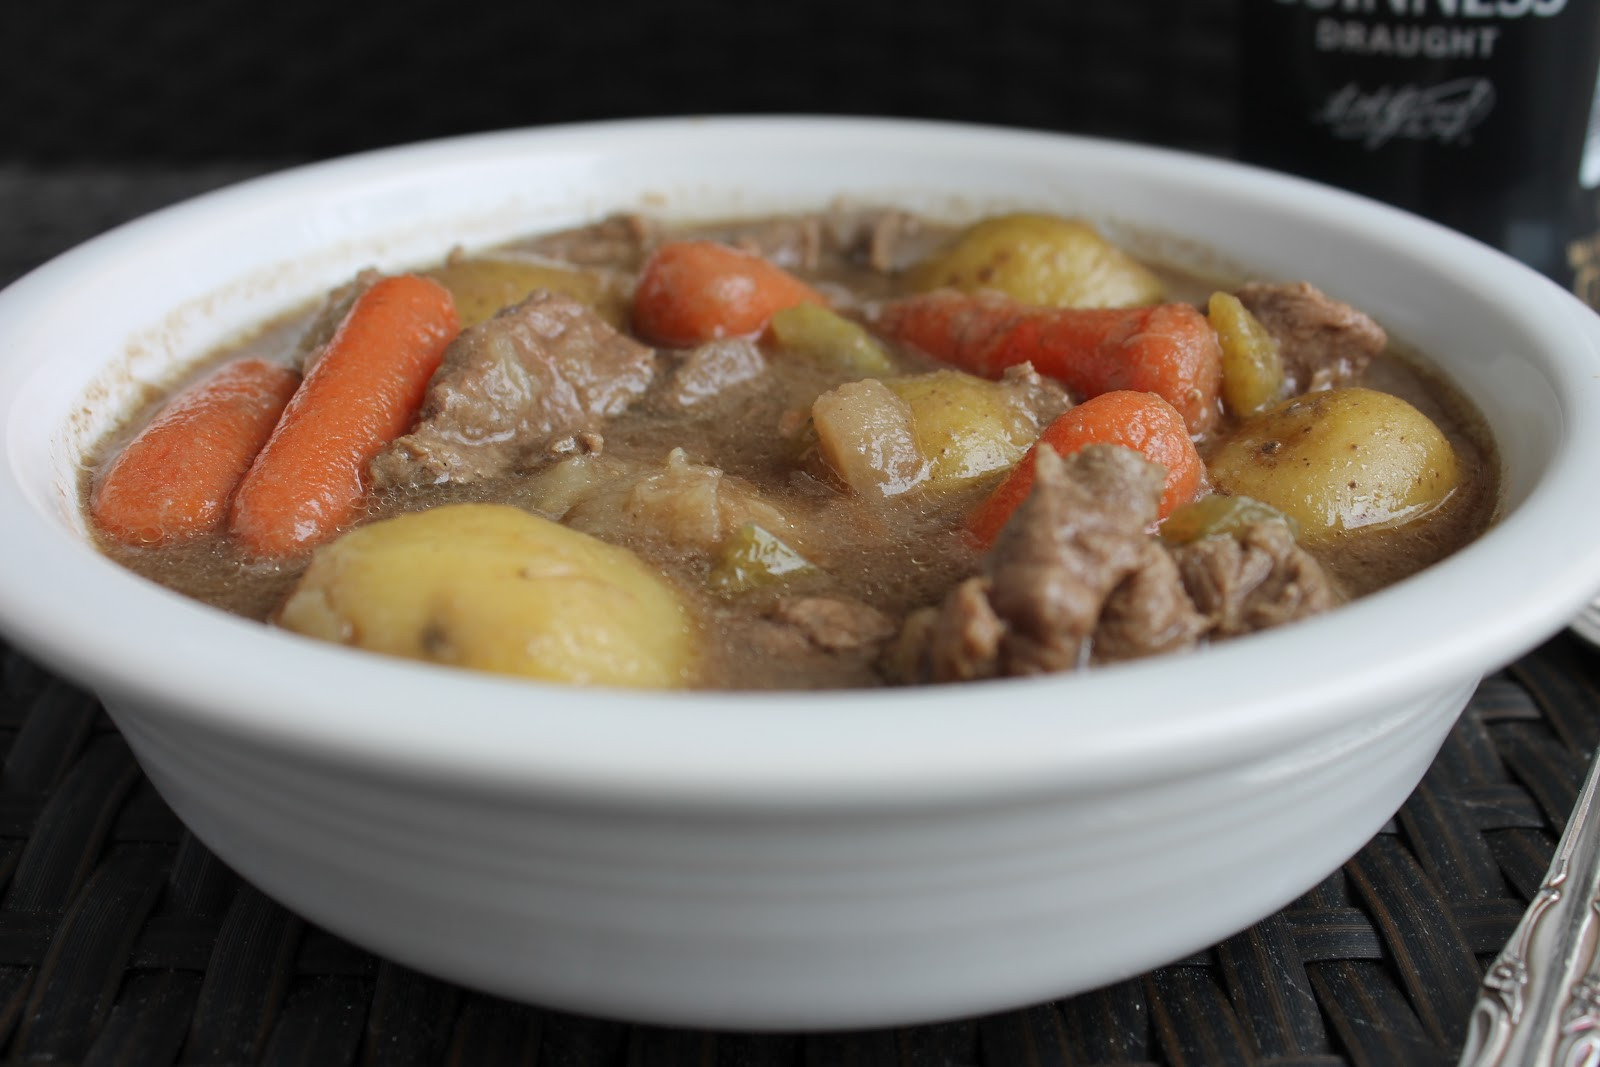
[[[1229,160],[1067,133],[856,117],[691,117],[494,131],[310,163],[163,208],[35,269],[0,293],[0,349],[37,330],[32,309],[142,242],[261,211],[309,190],[382,181],[475,155],[662,144],[832,144],[1008,152],[1181,168],[1211,195],[1306,203],[1325,224],[1422,250],[1453,280],[1501,296],[1552,362],[1558,445],[1526,499],[1483,539],[1397,587],[1283,630],[1082,675],[960,686],[814,693],[629,693],[475,675],[352,654],[192,603],[61,537],[0,470],[0,630],[19,648],[171,725],[248,739],[371,774],[440,785],[635,803],[910,805],[1098,790],[1182,776],[1307,742],[1318,731],[1475,678],[1558,630],[1600,587],[1600,520],[1584,458],[1600,454],[1600,318],[1547,278],[1459,234],[1371,200]],[[1230,190],[1226,192],[1224,190]],[[1419,254],[1422,254],[1419,253]],[[1520,310],[1510,310],[1520,309]],[[24,347],[26,346],[18,346]],[[22,381],[0,355],[0,382]],[[5,408],[8,451],[18,432]],[[1562,515],[1568,522],[1558,523]],[[1526,552],[1538,544],[1538,552]],[[75,597],[62,597],[70,589]],[[72,600],[93,606],[74,606]],[[126,625],[123,617],[144,622]],[[1395,633],[1435,630],[1429,641]],[[202,640],[205,654],[187,651]],[[1304,646],[1357,669],[1312,669]],[[317,689],[307,691],[307,683]],[[357,696],[358,694],[358,696]],[[1173,709],[1174,694],[1190,704]],[[1064,713],[1064,707],[1074,713]],[[438,709],[450,709],[448,721]],[[618,744],[629,737],[632,744]]]

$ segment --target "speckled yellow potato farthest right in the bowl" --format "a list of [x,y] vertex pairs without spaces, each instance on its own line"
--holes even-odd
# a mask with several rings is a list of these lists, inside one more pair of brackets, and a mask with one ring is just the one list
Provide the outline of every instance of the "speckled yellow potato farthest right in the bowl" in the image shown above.
[[1374,389],[1307,394],[1264,411],[1213,453],[1210,472],[1224,493],[1298,522],[1304,542],[1416,520],[1461,480],[1438,427]]

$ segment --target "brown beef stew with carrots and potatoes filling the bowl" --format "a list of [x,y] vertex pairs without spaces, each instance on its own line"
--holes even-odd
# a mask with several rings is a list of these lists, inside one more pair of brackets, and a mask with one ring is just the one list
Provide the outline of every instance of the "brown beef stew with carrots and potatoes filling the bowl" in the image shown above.
[[[1058,461],[1058,458],[1061,458]],[[645,214],[362,272],[85,478],[120,563],[299,633],[648,688],[1075,670],[1326,611],[1490,523],[1426,358],[1090,222]]]

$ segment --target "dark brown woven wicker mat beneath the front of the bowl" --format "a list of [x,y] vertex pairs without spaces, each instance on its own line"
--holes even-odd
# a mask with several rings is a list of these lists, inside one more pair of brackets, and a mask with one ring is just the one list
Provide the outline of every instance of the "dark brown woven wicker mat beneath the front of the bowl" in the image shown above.
[[1211,950],[939,1025],[696,1033],[469,992],[242,881],[94,697],[0,654],[0,1049],[67,1064],[1013,1067],[1453,1064],[1600,741],[1600,654],[1493,675],[1405,808],[1339,872]]

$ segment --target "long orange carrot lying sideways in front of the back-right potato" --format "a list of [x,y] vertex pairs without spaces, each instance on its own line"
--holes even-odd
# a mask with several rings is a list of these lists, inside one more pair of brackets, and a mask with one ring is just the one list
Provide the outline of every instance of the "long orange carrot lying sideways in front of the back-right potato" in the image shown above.
[[995,293],[938,290],[886,304],[877,328],[986,378],[1032,363],[1082,398],[1114,389],[1154,392],[1178,408],[1190,434],[1218,419],[1222,350],[1189,304],[1034,307]]

